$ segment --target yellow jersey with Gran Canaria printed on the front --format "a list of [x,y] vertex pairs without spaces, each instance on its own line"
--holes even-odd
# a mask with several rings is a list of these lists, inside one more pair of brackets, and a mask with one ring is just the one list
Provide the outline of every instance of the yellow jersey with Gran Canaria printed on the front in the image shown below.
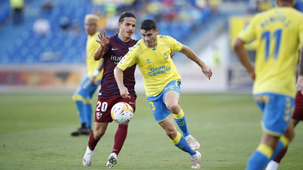
[[180,51],[182,44],[171,36],[157,35],[157,46],[148,47],[141,39],[118,63],[122,71],[135,63],[141,71],[146,96],[157,96],[172,80],[180,80],[177,68],[170,57],[171,51]]

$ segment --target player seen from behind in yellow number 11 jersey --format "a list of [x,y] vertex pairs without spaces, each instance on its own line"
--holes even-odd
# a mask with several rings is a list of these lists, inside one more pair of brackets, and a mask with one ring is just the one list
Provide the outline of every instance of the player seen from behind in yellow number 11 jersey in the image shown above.
[[[278,7],[257,14],[234,43],[235,52],[255,80],[254,98],[263,111],[263,135],[246,169],[263,169],[294,136],[289,123],[296,93],[295,67],[303,43],[303,14],[293,0],[277,0]],[[244,44],[256,40],[255,68]]]

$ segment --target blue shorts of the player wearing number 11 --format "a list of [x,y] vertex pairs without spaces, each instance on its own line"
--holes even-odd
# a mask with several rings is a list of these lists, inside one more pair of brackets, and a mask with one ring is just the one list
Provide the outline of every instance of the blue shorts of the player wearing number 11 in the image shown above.
[[295,108],[295,99],[276,93],[259,93],[254,98],[263,112],[263,131],[273,136],[284,135]]

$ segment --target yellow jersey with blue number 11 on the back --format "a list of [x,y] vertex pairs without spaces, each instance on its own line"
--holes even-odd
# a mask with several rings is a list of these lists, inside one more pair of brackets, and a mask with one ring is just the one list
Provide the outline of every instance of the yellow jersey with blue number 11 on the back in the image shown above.
[[295,96],[295,67],[303,43],[303,14],[291,7],[276,7],[252,18],[239,35],[244,42],[256,40],[253,93]]

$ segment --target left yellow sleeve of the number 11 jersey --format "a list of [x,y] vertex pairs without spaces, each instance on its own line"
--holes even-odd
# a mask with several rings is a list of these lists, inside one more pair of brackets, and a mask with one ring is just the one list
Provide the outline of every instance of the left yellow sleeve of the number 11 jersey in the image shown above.
[[255,17],[253,17],[251,19],[248,26],[239,33],[238,38],[240,38],[242,41],[244,41],[246,43],[256,39],[255,26],[256,26],[257,18],[258,18],[258,15],[256,15]]

